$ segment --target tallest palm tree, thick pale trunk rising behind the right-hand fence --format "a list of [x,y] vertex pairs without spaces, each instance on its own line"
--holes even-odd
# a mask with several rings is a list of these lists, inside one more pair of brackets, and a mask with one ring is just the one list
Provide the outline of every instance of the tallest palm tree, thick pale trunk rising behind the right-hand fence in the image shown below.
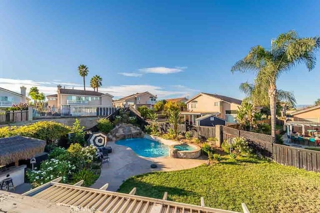
[[[276,80],[283,72],[289,71],[297,64],[305,64],[310,71],[315,66],[315,51],[320,47],[319,37],[301,38],[291,30],[280,34],[272,41],[271,50],[254,46],[249,53],[237,61],[231,72],[253,71],[255,86],[263,91],[267,88],[271,111],[271,136],[275,139]],[[259,91],[259,89],[257,89]]]

